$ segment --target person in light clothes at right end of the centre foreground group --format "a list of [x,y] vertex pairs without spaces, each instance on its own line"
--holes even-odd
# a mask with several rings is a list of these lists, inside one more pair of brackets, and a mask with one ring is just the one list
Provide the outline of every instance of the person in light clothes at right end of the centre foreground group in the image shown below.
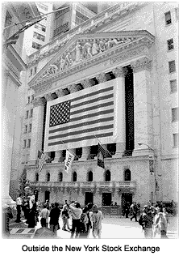
[[98,210],[98,207],[96,204],[93,206],[93,214],[91,215],[91,221],[93,224],[93,237],[96,238],[101,238],[101,232],[102,232],[102,220],[103,220],[103,215],[102,211]]

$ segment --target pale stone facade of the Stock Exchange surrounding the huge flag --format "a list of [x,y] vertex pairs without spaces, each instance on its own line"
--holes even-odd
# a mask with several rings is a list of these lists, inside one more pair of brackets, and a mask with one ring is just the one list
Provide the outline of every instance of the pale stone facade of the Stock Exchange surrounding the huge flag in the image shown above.
[[[44,55],[37,53],[35,59],[31,56],[29,67],[37,63],[41,68],[28,85],[37,99],[44,99],[47,105],[52,105],[52,100],[59,102],[64,96],[69,99],[69,94],[79,95],[81,90],[107,84],[110,79],[120,80],[123,109],[127,108],[129,98],[133,100],[133,148],[128,148],[126,135],[129,132],[127,115],[130,110],[128,113],[119,111],[117,114],[125,119],[122,127],[124,137],[116,142],[112,157],[105,159],[105,169],[110,170],[109,183],[105,183],[105,170],[98,168],[97,153],[89,158],[92,152],[90,145],[82,147],[81,157],[74,160],[69,174],[64,173],[63,162],[63,151],[67,147],[57,148],[54,160],[44,164],[39,181],[35,181],[37,170],[34,164],[37,151],[43,144],[44,116],[48,114],[43,105],[35,105],[31,156],[26,168],[27,179],[40,191],[41,202],[46,198],[45,191],[49,192],[51,203],[63,203],[67,198],[77,199],[84,205],[85,192],[89,191],[94,194],[94,203],[99,206],[102,206],[102,193],[111,193],[111,200],[119,205],[123,205],[123,195],[127,193],[132,194],[132,201],[141,204],[149,200],[173,199],[177,202],[178,190],[173,190],[173,187],[177,188],[177,148],[173,147],[177,122],[171,120],[172,108],[177,107],[177,92],[171,93],[169,89],[169,82],[177,79],[177,72],[168,72],[170,60],[176,59],[177,66],[176,4],[131,3],[120,10],[118,8],[117,5],[111,8],[110,18],[109,14],[104,17],[99,15],[96,21],[98,26],[93,26],[94,21],[88,21],[89,28],[80,32],[73,28],[65,37],[60,36],[55,48],[54,42],[51,42]],[[164,13],[169,10],[172,24],[164,27]],[[172,37],[174,50],[168,52],[167,40]],[[129,90],[128,81],[132,84]],[[130,90],[129,98],[125,97]],[[76,148],[71,149],[76,153]],[[153,168],[150,168],[150,160]],[[93,181],[90,183],[87,181],[89,169],[93,170]],[[124,181],[125,169],[131,171],[131,181]],[[151,176],[152,169],[154,173]],[[63,172],[63,181],[58,180],[60,171]],[[74,171],[77,172],[77,181],[72,181]],[[47,181],[48,172],[50,181]],[[168,191],[169,186],[171,192]]]

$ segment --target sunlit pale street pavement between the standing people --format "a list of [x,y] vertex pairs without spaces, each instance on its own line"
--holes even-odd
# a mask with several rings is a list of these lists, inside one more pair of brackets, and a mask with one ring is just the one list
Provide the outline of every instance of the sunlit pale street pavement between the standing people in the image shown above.
[[[25,224],[26,220],[22,220],[21,223],[15,222],[10,224],[10,238],[32,238],[35,233],[35,229],[41,228],[40,221],[34,228],[27,228]],[[57,231],[57,236],[60,238],[70,238],[70,233],[62,230],[62,220],[60,218],[60,230]],[[69,226],[71,227],[71,220],[69,220]],[[177,234],[178,223],[176,217],[170,218],[170,224],[168,225],[168,238],[178,238]],[[102,220],[102,238],[144,238],[142,228],[135,220],[116,218],[116,217],[105,217]],[[89,239],[92,239],[92,232],[89,233]],[[159,238],[159,237],[157,237]]]

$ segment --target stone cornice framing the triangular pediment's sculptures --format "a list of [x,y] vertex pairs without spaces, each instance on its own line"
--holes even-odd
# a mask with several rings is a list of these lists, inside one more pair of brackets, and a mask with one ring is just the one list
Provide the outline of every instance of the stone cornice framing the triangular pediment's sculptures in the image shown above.
[[[137,36],[139,33],[139,36]],[[106,59],[110,59],[111,56],[115,56],[115,55],[119,55],[120,53],[127,53],[127,51],[130,48],[138,48],[139,45],[145,45],[146,47],[151,47],[151,45],[154,42],[154,36],[152,36],[150,33],[142,31],[142,34],[140,32],[131,32],[130,36],[134,35],[135,36],[135,40],[134,41],[130,41],[129,43],[126,44],[119,44],[119,45],[115,45],[115,47],[112,47],[111,49],[108,49],[106,51],[104,51],[103,53],[98,53],[97,55],[93,56],[92,58],[86,58],[84,60],[82,60],[82,62],[79,62],[78,64],[75,64],[73,66],[70,66],[64,70],[58,70],[58,67],[56,66],[57,63],[60,61],[60,56],[62,56],[62,54],[64,54],[64,50],[68,49],[69,47],[71,47],[71,45],[78,39],[75,38],[75,40],[73,40],[72,42],[70,42],[70,44],[68,45],[68,48],[63,49],[60,53],[56,54],[54,56],[54,58],[52,58],[52,60],[48,63],[48,65],[44,66],[44,68],[42,70],[40,70],[40,72],[35,76],[35,78],[31,79],[31,81],[28,83],[29,87],[32,87],[35,89],[35,87],[42,87],[42,84],[45,83],[54,83],[60,79],[64,79],[65,77],[67,77],[68,75],[73,75],[78,71],[84,70],[90,66],[95,66],[96,63],[101,63],[104,62]],[[108,35],[108,38],[111,38],[112,36],[119,36],[119,32],[114,33],[104,33],[105,36]],[[91,36],[91,35],[89,35]],[[93,34],[93,41],[96,38],[102,38],[104,37],[104,35],[100,36],[98,34]],[[96,36],[96,37],[94,37]],[[120,36],[122,37],[122,33],[120,34]],[[123,35],[124,36],[124,35]],[[129,36],[129,37],[130,37]],[[88,37],[88,36],[87,36]],[[132,36],[133,38],[133,36]],[[85,36],[83,38],[80,38],[80,40],[85,40]],[[129,52],[130,53],[130,52]],[[65,53],[66,54],[66,53]],[[135,54],[135,53],[134,53]],[[131,53],[130,53],[131,55]],[[65,57],[66,58],[66,57]],[[114,61],[113,61],[114,62]],[[117,60],[115,61],[117,62]],[[55,64],[54,64],[55,63]],[[49,71],[49,69],[51,69]],[[48,70],[48,75],[44,78],[42,78],[42,80],[38,80],[40,79],[41,76],[43,76],[43,74],[45,74],[44,72]],[[52,71],[52,72],[51,72]]]

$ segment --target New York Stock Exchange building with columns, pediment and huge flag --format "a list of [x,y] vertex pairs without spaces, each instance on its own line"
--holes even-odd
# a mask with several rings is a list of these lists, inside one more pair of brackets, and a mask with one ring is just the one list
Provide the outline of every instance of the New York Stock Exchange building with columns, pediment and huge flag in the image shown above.
[[[158,45],[160,38],[167,44],[159,19],[164,26],[169,10],[159,6],[153,16],[153,8],[110,7],[29,58],[29,68],[36,65],[38,72],[27,82],[35,100],[25,168],[40,202],[123,207],[127,201],[176,201],[177,149],[168,121],[172,107],[164,96],[168,53]],[[105,169],[98,166],[99,141],[110,151]],[[75,155],[69,173],[67,149]],[[41,172],[38,151],[51,158]]]

